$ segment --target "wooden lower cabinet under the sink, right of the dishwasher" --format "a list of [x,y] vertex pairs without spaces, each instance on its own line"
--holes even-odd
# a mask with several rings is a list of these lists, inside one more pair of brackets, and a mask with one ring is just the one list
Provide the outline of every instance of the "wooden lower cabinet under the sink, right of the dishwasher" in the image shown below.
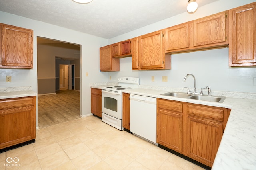
[[157,99],[157,143],[212,167],[231,109]]

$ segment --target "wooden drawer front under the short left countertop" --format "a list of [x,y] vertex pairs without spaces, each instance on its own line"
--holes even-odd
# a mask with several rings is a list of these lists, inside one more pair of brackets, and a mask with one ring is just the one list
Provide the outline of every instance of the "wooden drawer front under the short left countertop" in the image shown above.
[[33,106],[34,97],[28,98],[13,98],[0,100],[0,109],[10,109],[14,107]]

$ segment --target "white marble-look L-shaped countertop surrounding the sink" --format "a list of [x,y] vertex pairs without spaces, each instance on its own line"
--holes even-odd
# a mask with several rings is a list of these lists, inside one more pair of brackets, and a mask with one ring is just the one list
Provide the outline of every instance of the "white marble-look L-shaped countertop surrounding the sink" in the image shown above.
[[[100,88],[100,85],[91,84],[91,87]],[[256,94],[212,91],[213,96],[226,96],[223,103],[160,95],[171,91],[186,92],[186,89],[140,86],[123,92],[231,109],[212,170],[256,169]]]

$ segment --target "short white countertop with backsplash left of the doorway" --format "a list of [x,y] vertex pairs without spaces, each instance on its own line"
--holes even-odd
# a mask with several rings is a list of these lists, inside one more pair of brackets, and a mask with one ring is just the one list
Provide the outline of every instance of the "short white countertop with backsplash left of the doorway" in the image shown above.
[[20,98],[36,95],[37,93],[32,90],[32,86],[0,88],[0,99]]

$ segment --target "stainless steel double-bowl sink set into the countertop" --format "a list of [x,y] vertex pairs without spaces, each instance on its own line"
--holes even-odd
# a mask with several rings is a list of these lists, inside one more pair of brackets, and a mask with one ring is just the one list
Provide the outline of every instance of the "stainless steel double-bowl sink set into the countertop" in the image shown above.
[[207,102],[218,102],[218,103],[222,103],[226,99],[226,97],[223,97],[223,96],[204,96],[204,95],[196,95],[196,94],[187,94],[183,92],[168,92],[160,95],[173,96],[177,98],[203,100]]

